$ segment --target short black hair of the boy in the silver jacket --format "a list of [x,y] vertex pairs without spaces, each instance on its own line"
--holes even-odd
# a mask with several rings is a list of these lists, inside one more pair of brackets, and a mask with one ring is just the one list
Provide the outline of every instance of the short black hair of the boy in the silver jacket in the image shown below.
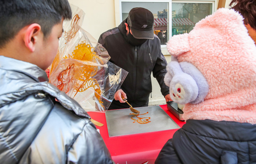
[[41,26],[45,38],[62,18],[72,18],[68,0],[1,0],[0,48],[32,23]]

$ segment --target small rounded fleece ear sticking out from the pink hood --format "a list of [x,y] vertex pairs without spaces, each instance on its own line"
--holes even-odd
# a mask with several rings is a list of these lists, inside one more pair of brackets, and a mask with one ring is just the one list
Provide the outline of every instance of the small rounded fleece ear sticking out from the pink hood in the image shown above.
[[174,35],[167,42],[167,50],[173,56],[179,56],[190,50],[189,47],[189,34]]

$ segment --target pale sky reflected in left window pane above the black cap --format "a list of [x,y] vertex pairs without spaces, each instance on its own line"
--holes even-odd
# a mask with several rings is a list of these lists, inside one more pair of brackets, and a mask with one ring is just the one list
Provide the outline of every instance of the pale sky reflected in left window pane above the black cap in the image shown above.
[[129,13],[133,7],[144,7],[153,14],[168,9],[167,2],[122,2],[122,13]]

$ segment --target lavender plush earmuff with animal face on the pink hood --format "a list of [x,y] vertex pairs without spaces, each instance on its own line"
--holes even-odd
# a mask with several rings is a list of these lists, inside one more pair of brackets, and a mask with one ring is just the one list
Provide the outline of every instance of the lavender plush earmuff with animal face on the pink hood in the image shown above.
[[164,81],[172,101],[178,104],[198,104],[208,94],[209,85],[203,74],[189,62],[171,61]]

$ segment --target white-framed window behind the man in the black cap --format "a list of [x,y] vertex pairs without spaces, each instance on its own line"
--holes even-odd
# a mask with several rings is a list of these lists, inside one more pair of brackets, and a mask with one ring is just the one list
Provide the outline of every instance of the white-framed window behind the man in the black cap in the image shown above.
[[[217,8],[216,1],[119,0],[120,19],[116,24],[125,20],[133,7],[147,8],[154,15],[154,33],[159,37],[161,47],[166,48],[171,36],[189,33],[199,20],[212,14]],[[116,4],[115,8],[118,10]]]

